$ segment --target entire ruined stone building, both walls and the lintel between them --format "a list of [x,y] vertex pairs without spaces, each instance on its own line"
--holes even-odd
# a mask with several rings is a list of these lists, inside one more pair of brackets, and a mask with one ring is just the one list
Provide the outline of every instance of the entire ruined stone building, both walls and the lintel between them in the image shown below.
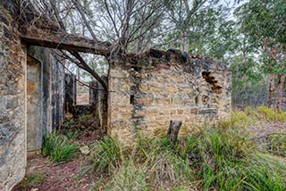
[[[74,104],[72,91],[66,93],[73,79],[49,49],[31,46],[40,41],[23,40],[17,16],[12,0],[0,4],[0,190],[10,190],[21,181],[27,151],[40,149],[43,134],[56,129],[66,114],[64,108]],[[45,46],[67,49],[67,40],[76,39],[58,37],[59,45],[56,35],[45,37],[50,40]],[[107,51],[97,50],[105,44],[80,42],[69,45],[82,52]],[[106,79],[108,91],[95,83],[97,91],[90,95],[97,103],[101,127],[122,142],[139,134],[166,133],[170,120],[181,120],[184,134],[206,120],[230,116],[231,74],[225,70],[222,62],[174,50],[114,56]]]

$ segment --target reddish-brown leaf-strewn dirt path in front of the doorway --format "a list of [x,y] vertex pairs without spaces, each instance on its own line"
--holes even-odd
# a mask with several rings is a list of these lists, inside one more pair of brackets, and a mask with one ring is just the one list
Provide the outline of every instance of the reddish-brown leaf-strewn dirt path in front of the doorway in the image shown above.
[[41,154],[32,154],[28,162],[27,177],[13,190],[89,190],[99,179],[85,173],[88,162],[84,158],[53,164]]

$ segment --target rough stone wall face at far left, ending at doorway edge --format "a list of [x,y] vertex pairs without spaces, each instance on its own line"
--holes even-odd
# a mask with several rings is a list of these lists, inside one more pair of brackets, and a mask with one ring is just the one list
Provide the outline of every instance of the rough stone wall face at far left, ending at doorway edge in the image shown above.
[[26,166],[26,53],[21,46],[13,3],[0,4],[0,190],[9,190]]

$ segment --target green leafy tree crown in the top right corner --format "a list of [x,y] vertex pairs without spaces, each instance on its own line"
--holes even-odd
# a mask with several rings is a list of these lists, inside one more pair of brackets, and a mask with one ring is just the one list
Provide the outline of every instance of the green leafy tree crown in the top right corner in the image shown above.
[[275,0],[250,0],[240,6],[239,17],[242,33],[248,37],[248,43],[262,48],[261,69],[270,73],[282,73],[285,70],[286,46],[286,4]]

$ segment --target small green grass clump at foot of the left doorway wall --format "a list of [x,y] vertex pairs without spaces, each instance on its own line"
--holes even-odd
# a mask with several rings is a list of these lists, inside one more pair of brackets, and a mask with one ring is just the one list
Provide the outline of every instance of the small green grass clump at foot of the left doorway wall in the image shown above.
[[75,156],[78,146],[60,134],[44,135],[42,154],[49,156],[53,162],[68,162]]

